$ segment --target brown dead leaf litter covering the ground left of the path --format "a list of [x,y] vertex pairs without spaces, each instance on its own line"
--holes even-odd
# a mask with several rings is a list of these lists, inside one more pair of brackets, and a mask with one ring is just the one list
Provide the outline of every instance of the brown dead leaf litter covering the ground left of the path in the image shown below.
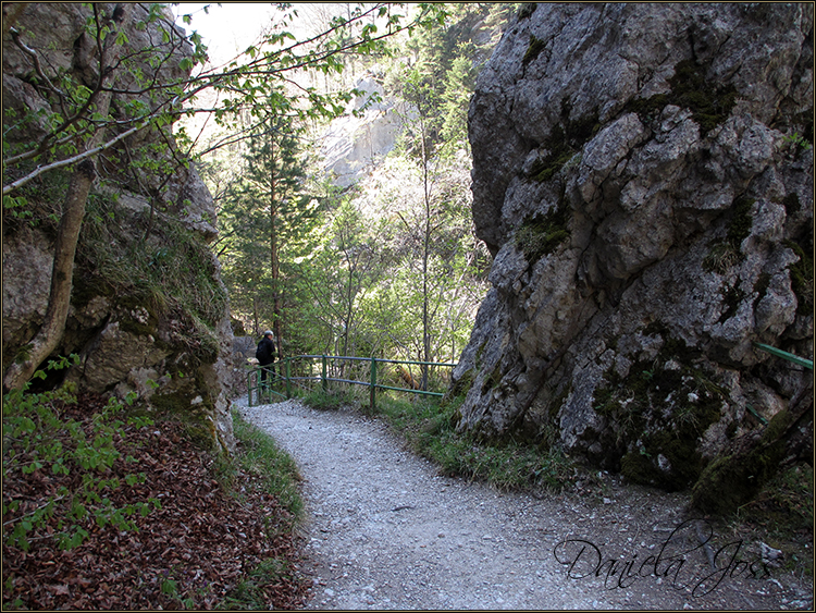
[[[63,410],[87,422],[104,402],[82,394]],[[82,475],[45,469],[4,475],[4,610],[249,608],[235,597],[248,577],[268,608],[302,606],[306,587],[293,518],[255,487],[255,476],[236,470],[231,490],[239,495],[225,491],[215,478],[213,455],[196,446],[177,421],[126,427],[126,437],[116,441],[122,457],[104,478],[124,483],[135,469],[145,474],[144,481],[108,489],[104,495],[116,508],[160,501],[148,515],[129,518],[134,530],[100,526],[88,515],[77,522],[87,531],[82,544],[61,550],[53,536],[63,527],[54,515],[29,535],[28,551],[10,547],[7,528]],[[136,462],[125,463],[127,455]],[[15,500],[21,504],[12,512],[7,506]],[[269,567],[270,561],[284,571],[263,576],[268,583],[258,585],[256,569]]]

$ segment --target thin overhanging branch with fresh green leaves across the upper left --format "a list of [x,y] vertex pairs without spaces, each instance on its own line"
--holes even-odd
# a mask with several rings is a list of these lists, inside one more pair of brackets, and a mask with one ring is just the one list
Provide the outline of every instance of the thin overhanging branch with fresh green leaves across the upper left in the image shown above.
[[[109,16],[94,4],[85,37],[91,41],[88,65],[82,77],[49,68],[47,50],[38,49],[29,33],[10,27],[16,48],[30,65],[28,83],[49,101],[50,110],[29,111],[22,117],[7,113],[4,133],[12,138],[4,142],[3,195],[45,172],[110,149],[136,132],[150,126],[166,128],[183,115],[212,113],[220,123],[234,125],[244,110],[256,117],[261,101],[271,101],[281,112],[301,119],[341,114],[346,102],[360,91],[319,93],[314,87],[298,85],[295,75],[301,71],[339,73],[348,53],[383,53],[387,38],[444,20],[446,14],[443,5],[434,3],[419,4],[411,17],[397,12],[404,4],[360,4],[350,16],[335,17],[330,29],[297,40],[285,29],[297,14],[297,9],[290,8],[283,12],[274,30],[242,56],[225,66],[208,68],[207,48],[200,35],[193,32],[184,36],[162,7],[150,4],[137,23],[137,29],[144,32],[152,32],[148,25],[154,26],[159,39],[149,37],[149,46],[137,48],[120,29],[115,32],[120,52],[102,61],[103,47],[113,29],[108,24]],[[188,15],[185,22],[189,22]],[[196,72],[197,66],[200,70]],[[281,86],[286,87],[285,96],[280,94]],[[206,90],[224,97],[214,108],[195,107],[196,98]],[[109,112],[98,103],[102,93],[115,100]],[[14,143],[15,133],[34,126],[41,128],[37,139]],[[98,146],[83,150],[81,144],[100,131],[111,134]],[[26,161],[34,168],[23,167]]]

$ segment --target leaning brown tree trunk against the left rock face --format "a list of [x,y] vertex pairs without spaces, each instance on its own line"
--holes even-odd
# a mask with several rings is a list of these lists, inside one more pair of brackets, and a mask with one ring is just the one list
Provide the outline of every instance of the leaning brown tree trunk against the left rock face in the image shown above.
[[[131,3],[122,3],[116,7],[113,20],[115,20],[118,29],[122,29],[125,26],[132,12],[133,4]],[[115,32],[109,34],[107,38],[111,47],[103,49],[102,57],[99,58],[100,75],[106,75],[108,72],[108,58],[115,56],[120,48],[116,39]],[[95,94],[95,111],[101,117],[108,114],[111,103],[111,93],[101,89],[107,78],[110,77],[100,76],[99,87]],[[84,150],[94,149],[102,142],[103,136],[104,132],[102,130],[98,131],[85,144]],[[77,164],[71,177],[63,205],[62,219],[57,231],[53,267],[51,270],[51,289],[48,296],[46,316],[37,334],[21,350],[17,358],[7,369],[3,377],[3,387],[7,390],[22,389],[39,365],[51,355],[62,341],[62,335],[65,332],[69,306],[71,305],[76,244],[79,240],[79,230],[85,217],[85,205],[88,200],[90,188],[94,185],[95,176],[96,168],[92,158],[88,158]]]

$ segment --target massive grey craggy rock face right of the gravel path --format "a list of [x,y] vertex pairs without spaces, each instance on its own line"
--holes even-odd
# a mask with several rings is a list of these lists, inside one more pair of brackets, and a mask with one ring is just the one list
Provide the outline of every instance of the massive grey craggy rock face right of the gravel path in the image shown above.
[[813,358],[813,7],[526,5],[470,106],[460,428],[683,488]]

